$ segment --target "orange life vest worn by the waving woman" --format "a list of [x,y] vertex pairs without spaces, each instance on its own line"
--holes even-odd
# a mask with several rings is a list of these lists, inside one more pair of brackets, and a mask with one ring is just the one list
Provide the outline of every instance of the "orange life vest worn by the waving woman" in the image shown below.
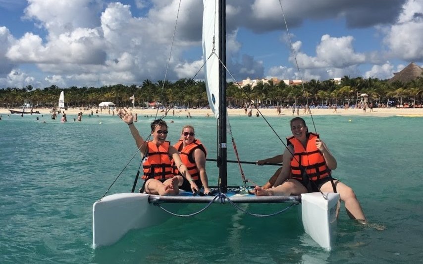
[[172,178],[172,161],[169,157],[170,142],[165,141],[160,146],[157,146],[152,141],[148,142],[147,159],[143,163],[144,175],[142,179],[158,179],[164,181]]

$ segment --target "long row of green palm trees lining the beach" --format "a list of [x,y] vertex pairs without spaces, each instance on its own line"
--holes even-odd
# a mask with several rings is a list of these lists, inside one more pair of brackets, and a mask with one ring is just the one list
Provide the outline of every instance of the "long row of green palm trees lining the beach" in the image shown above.
[[[132,107],[129,99],[135,97],[135,107],[146,107],[148,103],[159,102],[172,107],[208,107],[206,84],[204,81],[179,79],[175,82],[144,80],[142,84],[108,85],[102,87],[76,86],[60,88],[56,85],[35,88],[32,85],[19,88],[0,89],[1,107],[19,107],[23,100],[30,99],[35,107],[55,107],[61,91],[65,91],[67,107],[94,107],[101,102],[110,101],[117,107]],[[315,104],[355,104],[359,95],[367,93],[371,102],[386,103],[394,100],[396,104],[419,105],[422,103],[423,75],[409,83],[399,81],[389,84],[387,80],[350,78],[344,76],[340,83],[334,80],[311,80],[302,85],[286,85],[284,82],[268,83],[259,81],[256,85],[239,86],[228,83],[226,89],[229,107],[244,107],[246,104],[257,106],[292,106]]]

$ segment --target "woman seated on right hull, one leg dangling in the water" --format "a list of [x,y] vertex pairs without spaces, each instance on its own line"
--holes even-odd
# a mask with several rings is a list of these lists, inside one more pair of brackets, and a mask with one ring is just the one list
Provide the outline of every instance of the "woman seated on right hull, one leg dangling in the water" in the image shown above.
[[[337,163],[326,144],[317,134],[309,133],[303,118],[295,117],[290,124],[293,136],[287,138],[288,146],[283,153],[283,166],[274,187],[264,189],[256,186],[256,195],[300,195],[336,190],[341,201],[344,201],[350,218],[367,223],[354,191],[337,179],[333,179],[332,186],[330,173],[336,169]],[[303,177],[306,175],[307,177]]]

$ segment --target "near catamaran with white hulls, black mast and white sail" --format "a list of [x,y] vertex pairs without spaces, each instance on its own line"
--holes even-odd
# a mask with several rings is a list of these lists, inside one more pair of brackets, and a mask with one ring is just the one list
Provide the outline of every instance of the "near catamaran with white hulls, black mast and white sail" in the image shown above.
[[[190,204],[205,204],[205,209],[213,204],[219,204],[234,206],[239,210],[241,209],[237,204],[276,204],[280,205],[279,212],[297,206],[305,232],[320,247],[331,249],[336,239],[339,194],[317,192],[301,196],[258,197],[246,192],[244,187],[227,185],[226,136],[231,132],[225,99],[226,7],[225,0],[203,0],[203,4],[203,57],[209,103],[218,123],[216,160],[219,167],[219,185],[213,193],[214,196],[194,196],[187,192],[181,192],[177,196],[134,193],[136,182],[131,193],[108,196],[105,194],[93,205],[93,247],[111,245],[131,229],[158,225],[172,215],[177,215],[175,212],[179,208]],[[292,219],[287,219],[290,220]]]

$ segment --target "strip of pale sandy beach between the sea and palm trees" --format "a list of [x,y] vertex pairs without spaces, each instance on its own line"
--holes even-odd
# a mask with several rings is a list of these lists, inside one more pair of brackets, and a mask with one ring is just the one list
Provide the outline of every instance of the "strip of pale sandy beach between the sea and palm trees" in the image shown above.
[[[93,108],[93,109],[86,109],[84,110],[83,108],[68,108],[67,110],[64,110],[64,112],[68,115],[78,115],[79,112],[83,112],[84,115],[88,115],[91,114],[91,110],[93,110],[94,114],[96,114],[96,109],[97,108]],[[138,115],[156,115],[156,113],[158,114],[158,116],[162,116],[164,114],[163,110],[157,111],[157,109],[131,109],[129,108],[129,110],[135,114],[137,113]],[[250,109],[248,109],[250,110]],[[292,108],[283,108],[282,109],[282,113],[281,115],[278,115],[276,112],[275,108],[261,108],[259,109],[260,112],[264,115],[264,116],[292,116]],[[390,107],[390,108],[373,108],[373,111],[370,112],[370,108],[366,109],[367,111],[364,112],[363,109],[355,109],[355,108],[348,108],[348,109],[340,109],[338,108],[335,111],[335,109],[311,109],[312,115],[343,115],[343,116],[348,116],[348,115],[358,115],[358,116],[379,116],[379,117],[388,117],[388,116],[421,116],[423,117],[423,108],[395,108],[395,107]],[[40,114],[43,115],[51,115],[50,109],[45,109],[45,108],[34,108],[33,111],[39,111]],[[63,110],[62,110],[63,112]],[[116,114],[116,109],[114,109],[114,114]],[[227,109],[228,115],[229,116],[243,116],[246,115],[245,114],[245,110],[242,108],[238,108],[238,109]],[[188,113],[191,114],[191,116],[207,116],[207,114],[209,114],[210,117],[213,117],[213,112],[211,111],[211,109],[175,109],[175,116],[186,116],[188,115]],[[256,117],[256,113],[257,113],[257,109],[252,109],[252,117]],[[0,114],[2,115],[7,115],[10,114],[9,110],[7,108],[0,108]],[[109,115],[108,113],[108,109],[103,109],[103,111],[100,111],[99,109],[99,114],[100,115]],[[112,110],[110,110],[110,115],[112,114]],[[14,115],[18,115],[18,114],[14,114]],[[168,116],[173,116],[173,112],[172,110],[170,110],[167,113]],[[304,109],[300,108],[299,109],[299,115],[300,116],[305,116],[305,115],[310,115],[310,113],[305,113]],[[297,111],[295,111],[295,116],[297,116]]]

